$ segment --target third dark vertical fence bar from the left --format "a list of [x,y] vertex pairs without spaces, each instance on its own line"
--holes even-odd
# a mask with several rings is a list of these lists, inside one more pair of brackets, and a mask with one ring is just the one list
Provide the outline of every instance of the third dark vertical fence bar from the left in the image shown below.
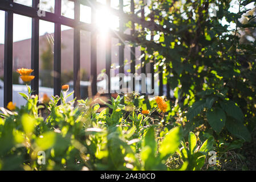
[[[62,1],[55,0],[54,13],[61,16]],[[61,76],[61,24],[54,24],[54,96],[60,96]]]

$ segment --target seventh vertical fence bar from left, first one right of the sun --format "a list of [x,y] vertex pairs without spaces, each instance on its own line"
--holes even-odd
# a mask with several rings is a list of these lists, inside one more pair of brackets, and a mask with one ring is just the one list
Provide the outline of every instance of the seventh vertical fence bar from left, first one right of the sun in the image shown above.
[[[124,13],[124,1],[119,0],[119,11],[120,14]],[[123,34],[124,32],[124,21],[122,17],[119,17],[119,32]],[[119,73],[124,73],[124,42],[122,39],[119,40]],[[121,81],[121,78],[120,78]],[[120,90],[122,90],[122,85],[120,85]]]

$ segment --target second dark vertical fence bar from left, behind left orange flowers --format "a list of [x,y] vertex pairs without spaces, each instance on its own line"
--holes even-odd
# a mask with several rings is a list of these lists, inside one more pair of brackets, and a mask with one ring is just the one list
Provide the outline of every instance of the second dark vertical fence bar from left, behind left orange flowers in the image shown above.
[[[39,10],[39,0],[32,0],[32,7]],[[39,92],[39,18],[32,18],[31,35],[31,69],[34,69],[32,75],[35,76],[31,81],[32,94]]]

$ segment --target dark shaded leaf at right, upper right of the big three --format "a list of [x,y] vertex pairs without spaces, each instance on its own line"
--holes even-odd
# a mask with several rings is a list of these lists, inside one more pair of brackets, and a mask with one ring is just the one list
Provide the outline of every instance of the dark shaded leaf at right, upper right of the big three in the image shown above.
[[227,115],[243,122],[243,112],[239,106],[235,105],[235,102],[225,100],[221,101],[220,104],[222,109],[226,111]]

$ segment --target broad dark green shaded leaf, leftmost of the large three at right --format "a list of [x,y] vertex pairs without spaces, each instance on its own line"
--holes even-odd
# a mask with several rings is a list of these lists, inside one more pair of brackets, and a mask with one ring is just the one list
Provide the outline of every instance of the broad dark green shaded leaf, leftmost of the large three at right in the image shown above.
[[226,122],[226,114],[224,110],[222,110],[220,107],[209,109],[206,113],[206,117],[213,130],[220,133]]

